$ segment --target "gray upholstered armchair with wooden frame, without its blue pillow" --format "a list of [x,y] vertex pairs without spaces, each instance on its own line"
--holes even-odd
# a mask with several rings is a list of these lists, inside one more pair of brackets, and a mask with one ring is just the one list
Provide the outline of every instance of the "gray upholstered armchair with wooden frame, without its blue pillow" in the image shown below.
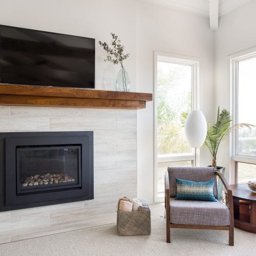
[[[206,182],[219,176],[227,191],[227,206],[219,201],[175,200],[175,178]],[[213,196],[217,198],[216,182]],[[215,199],[214,199],[215,200]],[[170,243],[170,228],[221,229],[229,231],[229,245],[234,245],[232,190],[221,173],[212,167],[168,167],[165,173],[166,242]]]

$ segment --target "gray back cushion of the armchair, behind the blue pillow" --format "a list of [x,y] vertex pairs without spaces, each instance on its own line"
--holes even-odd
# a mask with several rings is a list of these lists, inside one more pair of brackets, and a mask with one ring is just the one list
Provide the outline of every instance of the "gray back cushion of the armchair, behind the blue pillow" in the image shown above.
[[[175,178],[191,181],[215,180],[214,167],[168,167],[170,197],[177,196],[177,185]],[[217,198],[216,182],[213,193]]]

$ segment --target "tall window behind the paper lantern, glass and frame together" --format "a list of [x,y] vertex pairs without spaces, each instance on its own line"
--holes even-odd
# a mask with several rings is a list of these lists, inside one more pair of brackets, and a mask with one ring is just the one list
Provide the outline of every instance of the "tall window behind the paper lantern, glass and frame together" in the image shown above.
[[164,197],[168,166],[194,164],[181,119],[197,107],[198,67],[195,60],[155,53],[155,201]]

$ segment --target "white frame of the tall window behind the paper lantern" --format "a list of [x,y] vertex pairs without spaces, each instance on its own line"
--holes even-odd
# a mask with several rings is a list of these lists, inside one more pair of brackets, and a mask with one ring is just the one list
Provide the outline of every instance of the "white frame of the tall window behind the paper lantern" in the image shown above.
[[[157,155],[157,61],[176,63],[191,66],[191,109],[199,110],[199,67],[200,59],[188,56],[181,56],[163,52],[154,52],[154,201],[163,202],[164,196],[157,195],[157,164],[159,162],[192,161],[194,164],[195,153],[173,154],[158,157]],[[197,153],[197,160],[199,151]]]

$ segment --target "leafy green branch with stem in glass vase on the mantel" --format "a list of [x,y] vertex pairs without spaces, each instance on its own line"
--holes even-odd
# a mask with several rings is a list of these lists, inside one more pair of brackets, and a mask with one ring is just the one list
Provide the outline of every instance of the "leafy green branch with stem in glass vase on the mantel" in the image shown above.
[[122,69],[122,78],[123,78],[123,91],[127,91],[127,84],[126,84],[126,77],[125,77],[125,71],[123,67],[123,60],[127,59],[130,56],[130,53],[124,53],[124,46],[121,45],[121,40],[118,38],[117,35],[114,33],[110,33],[112,36],[111,41],[111,47],[106,43],[99,41],[99,45],[103,47],[103,49],[106,51],[106,58],[104,61],[110,61],[114,65],[119,64],[121,65]]

